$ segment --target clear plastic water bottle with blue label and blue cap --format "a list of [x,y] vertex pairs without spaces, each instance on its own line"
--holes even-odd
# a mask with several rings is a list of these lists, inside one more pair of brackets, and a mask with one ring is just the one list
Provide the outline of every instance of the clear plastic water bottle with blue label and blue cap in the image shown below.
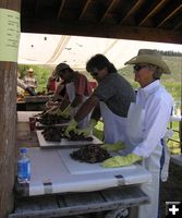
[[20,159],[17,160],[17,180],[20,183],[29,183],[31,180],[31,160],[27,157],[27,149],[20,148]]

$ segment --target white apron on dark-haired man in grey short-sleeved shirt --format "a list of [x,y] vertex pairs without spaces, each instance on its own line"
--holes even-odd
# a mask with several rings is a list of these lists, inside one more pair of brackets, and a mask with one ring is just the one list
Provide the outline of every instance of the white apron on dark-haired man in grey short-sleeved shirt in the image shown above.
[[114,114],[105,102],[100,101],[100,112],[104,119],[105,143],[125,142],[126,118]]

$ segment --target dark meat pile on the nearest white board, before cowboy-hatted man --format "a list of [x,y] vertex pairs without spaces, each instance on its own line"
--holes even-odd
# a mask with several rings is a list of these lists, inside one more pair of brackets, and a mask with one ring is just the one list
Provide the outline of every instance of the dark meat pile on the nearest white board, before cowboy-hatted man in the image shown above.
[[111,157],[110,154],[99,145],[87,145],[74,150],[70,156],[75,160],[89,164],[102,162]]

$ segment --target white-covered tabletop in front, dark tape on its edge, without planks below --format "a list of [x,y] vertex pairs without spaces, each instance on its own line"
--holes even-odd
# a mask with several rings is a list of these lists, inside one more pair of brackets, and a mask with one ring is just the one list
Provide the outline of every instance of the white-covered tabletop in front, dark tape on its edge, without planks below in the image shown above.
[[102,168],[70,157],[75,148],[28,148],[32,175],[27,195],[92,192],[150,182],[150,173],[139,165]]

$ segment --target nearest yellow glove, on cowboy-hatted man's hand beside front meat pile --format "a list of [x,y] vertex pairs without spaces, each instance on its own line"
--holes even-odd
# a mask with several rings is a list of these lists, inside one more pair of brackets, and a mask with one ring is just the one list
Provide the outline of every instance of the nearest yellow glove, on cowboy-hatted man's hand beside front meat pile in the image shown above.
[[133,165],[142,160],[143,158],[135,154],[129,154],[126,156],[116,156],[105,160],[101,166],[105,168],[112,168],[112,167],[124,167]]

